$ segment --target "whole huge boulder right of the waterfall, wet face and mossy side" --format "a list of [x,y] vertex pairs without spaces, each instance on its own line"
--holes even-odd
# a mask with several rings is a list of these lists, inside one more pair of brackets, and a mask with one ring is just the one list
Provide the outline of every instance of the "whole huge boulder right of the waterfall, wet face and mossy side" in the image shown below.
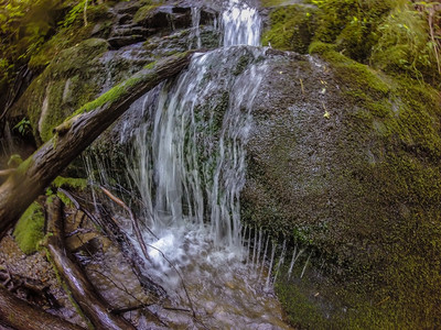
[[[293,318],[298,326],[439,324],[439,94],[356,63],[334,45],[310,51],[312,57],[270,58],[272,74],[252,111],[243,219],[313,251],[327,279],[311,272],[311,287],[327,290],[334,309],[352,306],[333,314],[334,323]],[[299,304],[300,294],[284,294],[292,282],[283,283],[284,306]],[[315,307],[304,308],[315,315]]]

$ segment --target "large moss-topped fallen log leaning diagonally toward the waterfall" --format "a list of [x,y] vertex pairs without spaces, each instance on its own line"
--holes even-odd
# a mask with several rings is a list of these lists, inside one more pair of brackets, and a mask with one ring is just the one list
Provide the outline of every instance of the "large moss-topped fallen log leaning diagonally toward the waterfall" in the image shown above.
[[[130,105],[161,81],[187,66],[191,53],[159,61],[78,110],[83,112],[55,129],[55,135],[0,186],[0,237],[31,202]],[[88,111],[88,112],[86,112]]]

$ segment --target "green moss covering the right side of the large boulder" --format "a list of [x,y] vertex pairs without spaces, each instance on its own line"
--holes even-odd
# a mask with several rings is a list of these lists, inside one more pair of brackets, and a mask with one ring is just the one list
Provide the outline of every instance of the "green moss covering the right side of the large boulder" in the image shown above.
[[[324,69],[346,103],[338,116],[347,140],[338,154],[355,170],[342,172],[333,184],[347,185],[351,197],[342,195],[340,202],[351,204],[342,209],[341,223],[331,223],[324,234],[315,224],[297,228],[306,228],[306,244],[330,263],[332,282],[318,290],[338,293],[327,304],[351,308],[323,324],[322,302],[298,283],[281,280],[279,298],[300,328],[329,329],[333,322],[336,329],[432,328],[441,296],[439,92],[405,75],[387,76],[337,50],[323,42],[309,48],[327,62]],[[366,145],[377,145],[368,163],[357,156]]]

